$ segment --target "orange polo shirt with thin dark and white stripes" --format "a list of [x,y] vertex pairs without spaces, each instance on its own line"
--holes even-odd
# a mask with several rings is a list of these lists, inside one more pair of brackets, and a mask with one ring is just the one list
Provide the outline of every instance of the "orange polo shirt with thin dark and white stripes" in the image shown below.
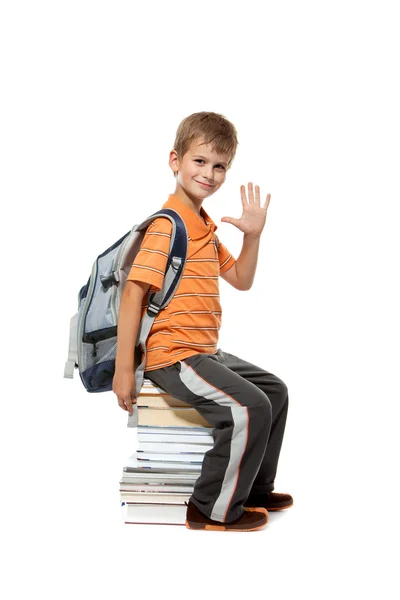
[[[217,352],[222,318],[218,278],[236,262],[221,242],[217,251],[217,225],[204,208],[200,209],[200,218],[174,194],[169,195],[163,208],[172,208],[183,219],[188,251],[175,295],[158,313],[147,338],[147,371],[168,367],[193,354]],[[128,280],[151,284],[143,299],[142,317],[149,295],[162,287],[171,233],[171,222],[156,218],[147,228],[129,272]]]

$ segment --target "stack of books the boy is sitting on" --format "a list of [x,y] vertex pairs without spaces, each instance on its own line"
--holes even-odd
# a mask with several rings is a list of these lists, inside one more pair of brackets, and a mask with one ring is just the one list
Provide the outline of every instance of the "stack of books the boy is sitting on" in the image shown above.
[[214,443],[211,425],[147,379],[137,410],[137,449],[120,480],[124,521],[184,525],[186,503]]

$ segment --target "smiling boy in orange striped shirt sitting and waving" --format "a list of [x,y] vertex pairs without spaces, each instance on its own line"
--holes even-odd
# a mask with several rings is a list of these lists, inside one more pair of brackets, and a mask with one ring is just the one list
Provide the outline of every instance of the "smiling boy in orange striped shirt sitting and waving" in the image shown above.
[[[270,201],[241,186],[243,214],[224,217],[244,234],[237,260],[219,242],[217,226],[202,208],[225,181],[237,148],[235,127],[222,115],[200,112],[179,125],[169,166],[176,188],[163,208],[176,210],[188,232],[185,269],[176,293],[157,315],[147,340],[145,377],[192,405],[210,423],[214,446],[188,503],[189,529],[254,531],[268,510],[293,504],[275,494],[274,479],[288,409],[286,385],[275,375],[218,349],[221,326],[218,277],[238,290],[250,289]],[[148,297],[161,289],[172,225],[164,218],[148,227],[128,275],[118,319],[113,391],[132,412],[134,344]],[[219,240],[218,240],[219,241]]]

